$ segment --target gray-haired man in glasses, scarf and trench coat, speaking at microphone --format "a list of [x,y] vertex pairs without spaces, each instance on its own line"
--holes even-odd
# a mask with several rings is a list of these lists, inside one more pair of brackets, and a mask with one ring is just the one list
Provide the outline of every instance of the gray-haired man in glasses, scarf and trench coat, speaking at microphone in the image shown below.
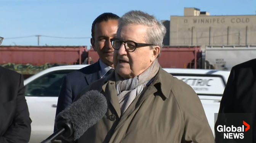
[[115,72],[75,99],[98,90],[108,101],[107,113],[77,143],[214,143],[197,94],[157,61],[163,24],[142,11],[129,11],[118,24],[117,38],[110,39]]

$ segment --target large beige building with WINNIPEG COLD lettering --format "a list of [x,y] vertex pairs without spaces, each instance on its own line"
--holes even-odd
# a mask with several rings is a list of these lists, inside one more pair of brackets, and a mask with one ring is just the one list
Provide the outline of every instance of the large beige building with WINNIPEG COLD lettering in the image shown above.
[[197,8],[184,8],[184,16],[162,22],[167,29],[165,45],[256,45],[256,14],[210,16]]

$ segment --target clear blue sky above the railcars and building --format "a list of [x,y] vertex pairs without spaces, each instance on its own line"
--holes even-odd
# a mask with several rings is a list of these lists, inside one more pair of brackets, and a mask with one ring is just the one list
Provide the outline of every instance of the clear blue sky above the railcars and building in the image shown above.
[[[255,15],[256,0],[0,0],[0,36],[6,38],[2,45],[37,45],[34,35],[46,35],[82,38],[40,37],[40,45],[90,46],[91,24],[104,12],[122,16],[142,10],[170,20],[171,15],[183,16],[184,7],[210,15]],[[8,39],[24,36],[32,37]]]

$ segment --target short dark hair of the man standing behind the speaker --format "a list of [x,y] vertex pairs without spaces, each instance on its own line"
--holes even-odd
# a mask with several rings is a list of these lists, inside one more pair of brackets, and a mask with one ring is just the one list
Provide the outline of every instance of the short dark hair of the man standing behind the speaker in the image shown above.
[[97,23],[103,22],[103,21],[109,21],[111,19],[119,19],[120,17],[114,13],[102,13],[101,15],[99,15],[94,21],[93,21],[93,25],[91,25],[91,37],[94,40],[94,29],[95,29],[95,25]]

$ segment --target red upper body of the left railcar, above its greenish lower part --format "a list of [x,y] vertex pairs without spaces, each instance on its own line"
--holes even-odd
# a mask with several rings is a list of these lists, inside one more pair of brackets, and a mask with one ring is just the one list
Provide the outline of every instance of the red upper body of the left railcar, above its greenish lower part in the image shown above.
[[81,64],[87,46],[0,46],[0,64]]

